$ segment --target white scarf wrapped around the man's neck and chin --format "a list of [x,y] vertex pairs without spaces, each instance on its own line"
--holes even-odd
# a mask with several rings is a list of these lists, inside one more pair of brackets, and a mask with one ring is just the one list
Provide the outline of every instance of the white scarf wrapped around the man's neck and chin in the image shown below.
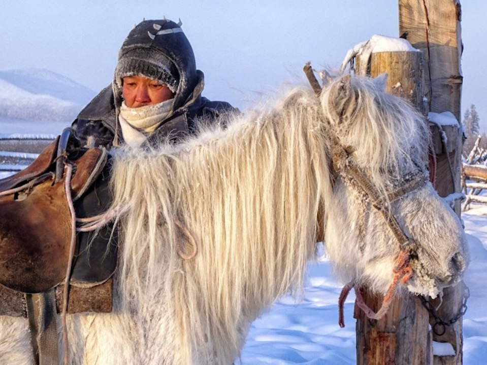
[[132,148],[138,148],[148,135],[171,115],[174,99],[136,108],[128,107],[125,101],[120,106],[118,121],[123,139]]

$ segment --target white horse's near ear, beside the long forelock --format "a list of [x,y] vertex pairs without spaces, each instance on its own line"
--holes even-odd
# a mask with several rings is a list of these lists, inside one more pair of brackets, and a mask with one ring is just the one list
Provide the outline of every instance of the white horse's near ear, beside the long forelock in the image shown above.
[[351,76],[345,75],[335,82],[330,90],[328,106],[329,112],[335,119],[332,123],[341,124],[350,116],[355,106],[355,92],[351,84]]

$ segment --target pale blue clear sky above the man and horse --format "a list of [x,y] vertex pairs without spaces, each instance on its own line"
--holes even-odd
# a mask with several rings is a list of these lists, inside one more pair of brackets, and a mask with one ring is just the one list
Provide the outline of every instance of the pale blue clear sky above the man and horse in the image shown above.
[[[487,131],[487,52],[480,35],[487,2],[461,3],[462,115],[475,104]],[[110,83],[132,26],[163,16],[181,18],[205,72],[204,95],[241,108],[283,81],[302,78],[307,61],[338,67],[349,48],[373,34],[399,35],[395,0],[4,1],[0,69],[47,68],[98,91]]]

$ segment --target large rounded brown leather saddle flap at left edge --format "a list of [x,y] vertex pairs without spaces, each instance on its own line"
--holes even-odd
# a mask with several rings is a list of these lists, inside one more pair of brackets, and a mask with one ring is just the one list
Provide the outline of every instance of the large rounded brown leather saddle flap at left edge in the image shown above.
[[37,185],[30,194],[0,197],[0,284],[41,293],[66,277],[71,216],[64,178]]

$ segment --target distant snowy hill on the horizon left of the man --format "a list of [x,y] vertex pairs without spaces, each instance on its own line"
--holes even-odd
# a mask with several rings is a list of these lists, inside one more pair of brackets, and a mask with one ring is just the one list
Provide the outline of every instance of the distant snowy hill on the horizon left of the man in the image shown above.
[[14,121],[69,125],[95,95],[95,91],[47,69],[0,71],[0,133]]

